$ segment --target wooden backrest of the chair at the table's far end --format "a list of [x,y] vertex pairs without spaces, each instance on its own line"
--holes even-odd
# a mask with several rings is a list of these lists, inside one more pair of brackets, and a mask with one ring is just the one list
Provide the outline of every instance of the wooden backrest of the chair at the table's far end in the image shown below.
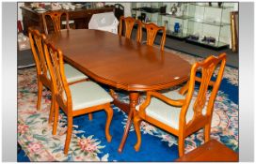
[[[43,13],[42,19],[43,19],[43,27],[44,27],[44,32],[45,34],[49,34],[49,24],[47,25],[47,20],[48,22],[51,21],[54,27],[54,31],[60,31],[61,29],[61,16],[65,15],[66,16],[66,29],[70,29],[69,25],[69,13],[66,11],[48,11]],[[47,19],[50,18],[50,19]]]

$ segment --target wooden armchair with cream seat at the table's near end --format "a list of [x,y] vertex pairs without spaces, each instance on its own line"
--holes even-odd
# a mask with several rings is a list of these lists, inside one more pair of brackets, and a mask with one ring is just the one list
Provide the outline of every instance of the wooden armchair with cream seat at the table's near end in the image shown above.
[[[136,106],[136,151],[141,144],[139,126],[142,120],[178,136],[180,157],[184,156],[185,137],[200,128],[204,128],[205,142],[208,142],[215,99],[225,65],[226,53],[209,56],[191,67],[190,79],[181,89],[165,93],[147,92],[145,101]],[[196,85],[196,82],[199,84]],[[198,90],[195,90],[195,86]]]

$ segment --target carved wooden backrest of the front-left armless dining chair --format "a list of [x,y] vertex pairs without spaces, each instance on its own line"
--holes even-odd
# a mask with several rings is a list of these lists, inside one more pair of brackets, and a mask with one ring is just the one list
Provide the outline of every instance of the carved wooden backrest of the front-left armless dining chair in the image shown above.
[[[63,111],[72,109],[72,96],[69,84],[64,72],[63,55],[60,50],[49,42],[44,41],[45,58],[53,81],[53,93],[56,96],[57,104]],[[72,111],[67,111],[72,112]]]

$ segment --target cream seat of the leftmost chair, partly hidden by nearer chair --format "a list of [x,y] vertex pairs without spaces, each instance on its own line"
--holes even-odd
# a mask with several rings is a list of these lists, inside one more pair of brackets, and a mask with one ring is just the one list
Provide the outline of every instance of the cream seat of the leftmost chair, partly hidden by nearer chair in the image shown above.
[[[79,82],[88,79],[88,76],[69,64],[64,64],[64,71],[68,83]],[[47,72],[47,78],[51,79],[49,71]]]

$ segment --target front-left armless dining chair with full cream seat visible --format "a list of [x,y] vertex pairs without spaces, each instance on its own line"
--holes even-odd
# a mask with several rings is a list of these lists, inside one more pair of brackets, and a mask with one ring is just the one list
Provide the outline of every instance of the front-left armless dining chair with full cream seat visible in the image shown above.
[[56,135],[58,123],[58,109],[60,108],[68,118],[68,128],[64,146],[64,154],[69,151],[72,139],[72,119],[75,116],[90,112],[106,112],[105,137],[107,142],[111,142],[112,136],[109,134],[109,127],[113,117],[113,110],[110,103],[113,98],[96,82],[77,82],[68,85],[64,73],[63,55],[60,50],[56,50],[51,43],[44,43],[46,62],[53,80],[53,89],[55,97],[55,121],[53,134]]

